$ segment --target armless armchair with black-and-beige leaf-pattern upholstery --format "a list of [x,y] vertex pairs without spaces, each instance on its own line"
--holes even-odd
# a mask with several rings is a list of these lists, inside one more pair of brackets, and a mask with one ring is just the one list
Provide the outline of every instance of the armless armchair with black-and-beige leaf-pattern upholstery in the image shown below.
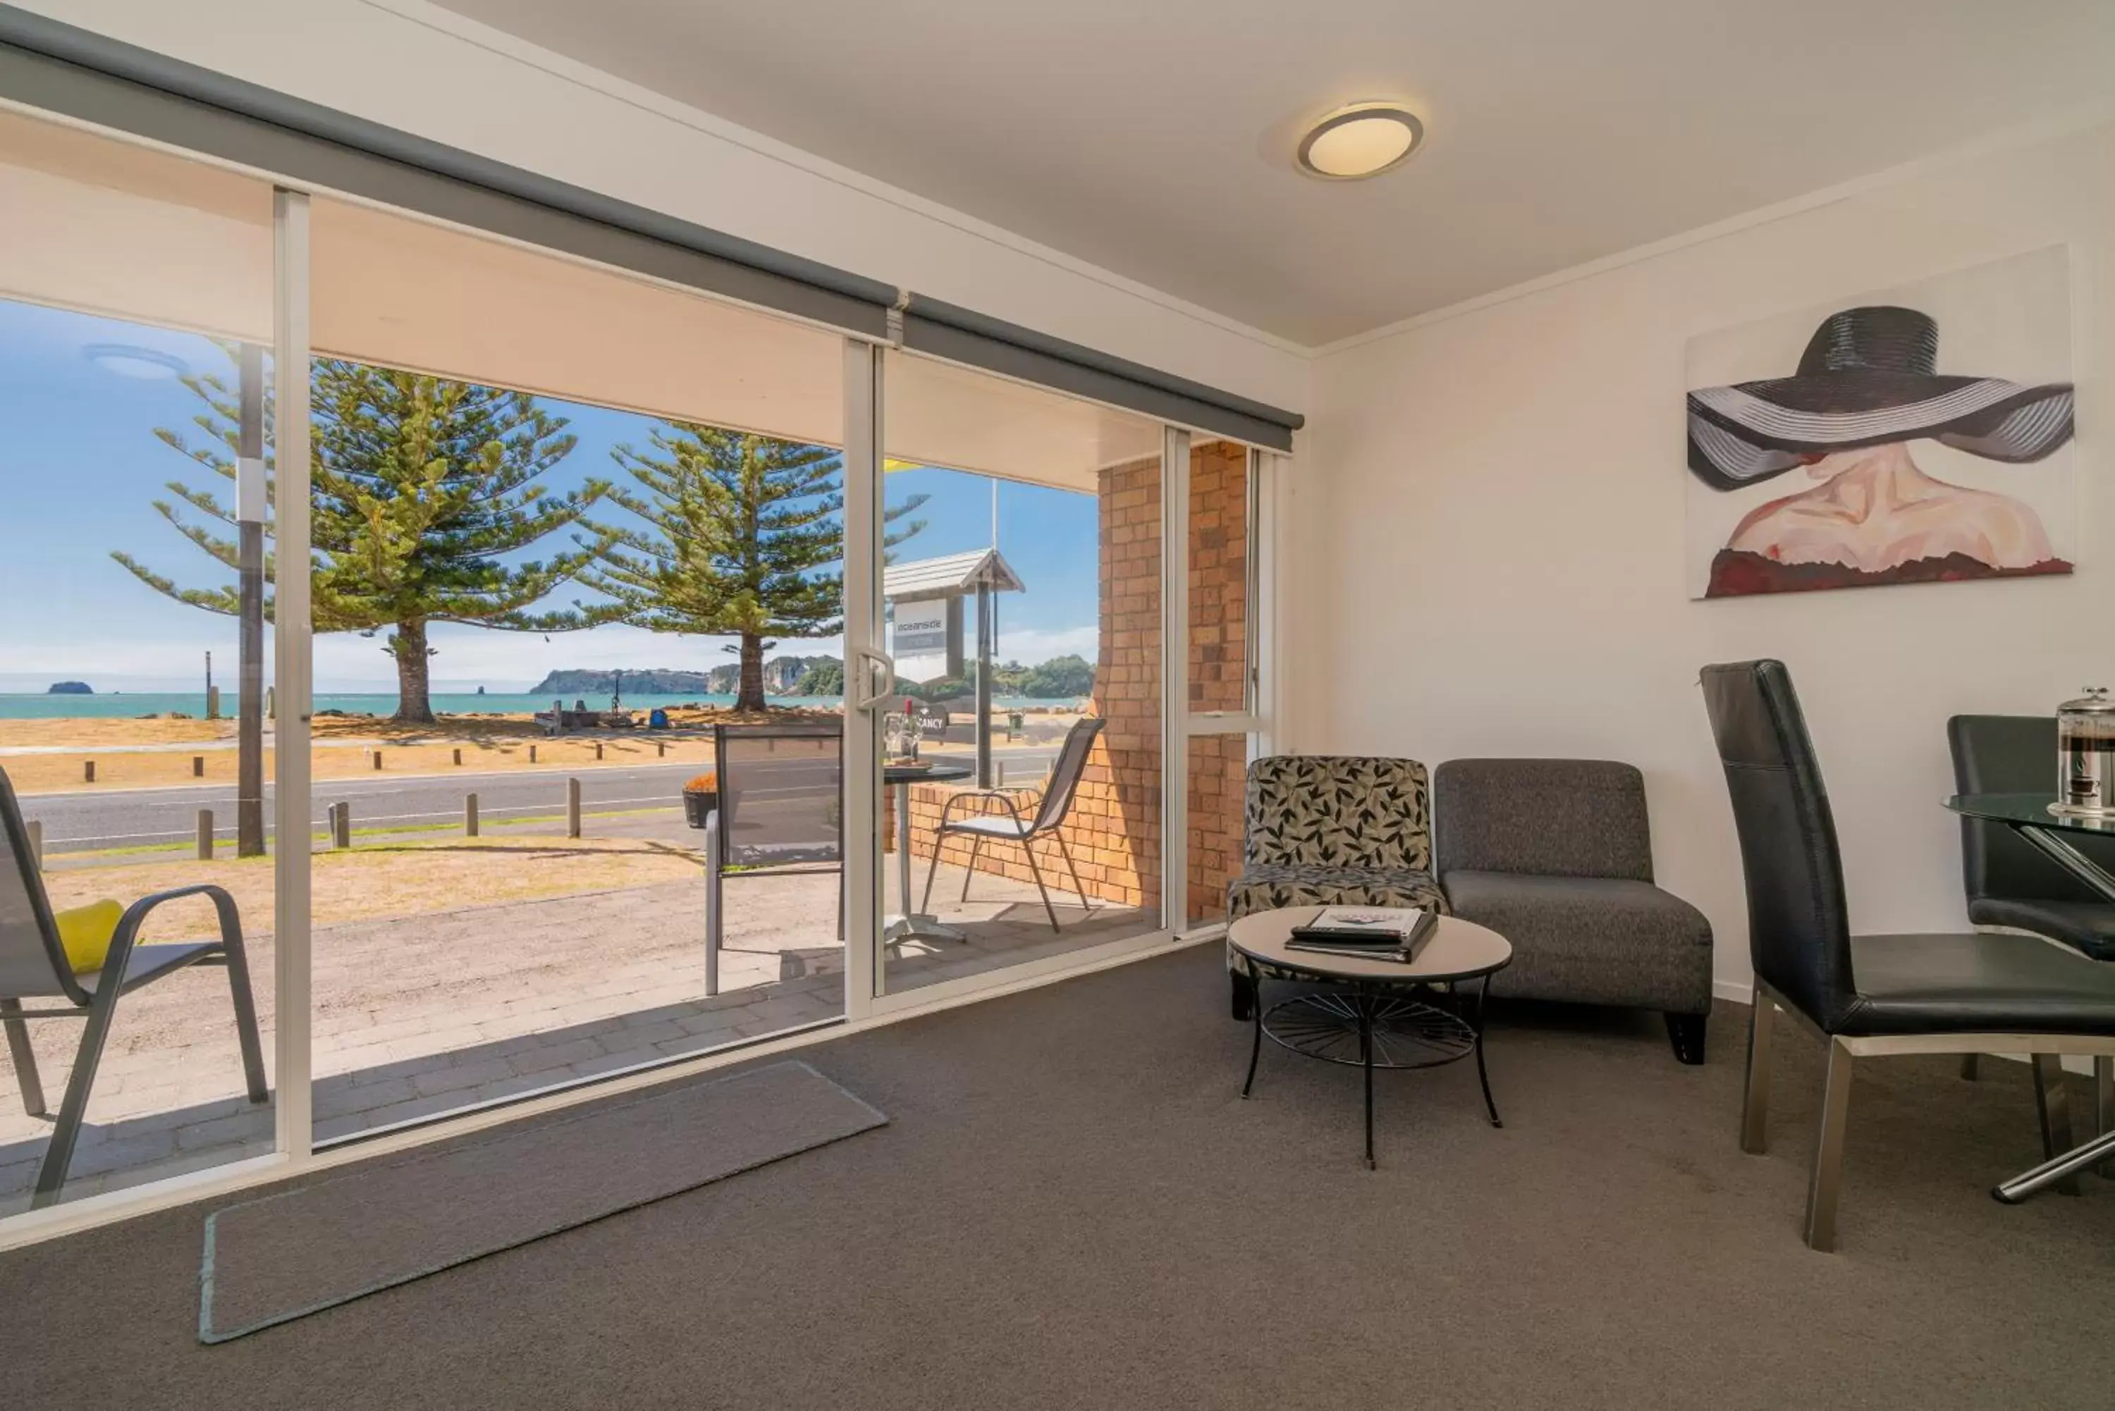
[[[1227,918],[1286,905],[1423,905],[1447,910],[1432,880],[1432,789],[1415,759],[1273,755],[1248,766],[1242,876]],[[1227,950],[1233,1018],[1256,996],[1248,963]]]

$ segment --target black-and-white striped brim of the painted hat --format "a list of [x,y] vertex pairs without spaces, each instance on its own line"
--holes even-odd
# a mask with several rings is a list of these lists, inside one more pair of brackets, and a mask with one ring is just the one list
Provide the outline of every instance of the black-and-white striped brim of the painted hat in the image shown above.
[[2039,461],[2071,440],[2071,383],[1882,377],[1887,393],[1857,372],[1698,387],[1690,393],[1690,470],[1711,489],[1736,491],[1815,453],[1895,440],[1931,438],[2011,463]]

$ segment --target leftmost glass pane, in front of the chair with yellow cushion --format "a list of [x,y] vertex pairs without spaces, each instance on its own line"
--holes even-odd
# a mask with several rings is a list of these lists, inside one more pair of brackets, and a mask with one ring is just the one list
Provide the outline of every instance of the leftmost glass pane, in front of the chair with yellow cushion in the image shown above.
[[239,922],[231,946],[207,897],[154,908],[99,1053],[82,1018],[25,1020],[51,1117],[0,1058],[15,1212],[40,1174],[80,1199],[273,1149],[269,525],[237,491],[271,457],[273,193],[0,114],[0,774],[38,859],[0,848],[6,992],[30,1013],[112,992],[116,916],[152,893],[224,888]]

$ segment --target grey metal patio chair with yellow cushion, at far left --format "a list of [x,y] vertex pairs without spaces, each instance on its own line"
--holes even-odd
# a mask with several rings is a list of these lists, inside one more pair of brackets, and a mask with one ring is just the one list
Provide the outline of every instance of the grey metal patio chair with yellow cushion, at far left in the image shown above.
[[[110,1020],[118,996],[173,975],[190,965],[224,965],[235,998],[235,1034],[243,1049],[243,1081],[252,1102],[266,1102],[264,1049],[258,1043],[258,1011],[250,998],[250,965],[243,958],[243,924],[235,897],[220,886],[173,886],[142,897],[125,908],[110,935],[110,950],[97,969],[74,971],[66,958],[59,920],[44,895],[44,878],[30,848],[30,829],[15,802],[15,785],[0,770],[0,831],[6,833],[6,857],[0,857],[0,1026],[15,1060],[15,1081],[21,1085],[21,1106],[30,1117],[44,1115],[44,1085],[36,1075],[36,1051],[30,1047],[27,1020],[87,1020],[74,1070],[66,1079],[66,1100],[59,1121],[44,1147],[44,1163],[36,1174],[32,1208],[49,1206],[66,1185],[66,1168],[74,1161],[80,1119],[89,1108],[95,1068],[110,1039]],[[180,941],[173,946],[142,946],[140,924],[148,912],[178,897],[209,897],[220,914],[218,941]],[[32,1001],[25,1007],[23,1001]]]

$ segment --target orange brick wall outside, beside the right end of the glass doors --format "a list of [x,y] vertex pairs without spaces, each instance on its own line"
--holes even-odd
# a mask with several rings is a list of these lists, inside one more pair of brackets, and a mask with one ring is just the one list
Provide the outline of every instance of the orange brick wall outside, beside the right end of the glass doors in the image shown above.
[[[1100,658],[1091,711],[1108,721],[1087,757],[1064,842],[1087,895],[1148,912],[1161,886],[1161,465],[1132,461],[1102,472],[1100,484]],[[1191,709],[1239,711],[1246,666],[1248,455],[1239,446],[1191,453]],[[1227,882],[1242,865],[1242,781],[1246,736],[1191,740],[1189,910],[1220,916]],[[912,787],[912,857],[933,857],[950,785]],[[1013,795],[1034,817],[1041,793]],[[960,808],[956,810],[960,814]],[[1003,810],[1000,810],[1003,812]],[[967,867],[971,844],[950,838],[941,861]],[[1070,891],[1053,842],[1036,846],[1049,886]],[[977,872],[1030,880],[1017,846],[983,846]],[[924,874],[916,876],[924,886]]]

